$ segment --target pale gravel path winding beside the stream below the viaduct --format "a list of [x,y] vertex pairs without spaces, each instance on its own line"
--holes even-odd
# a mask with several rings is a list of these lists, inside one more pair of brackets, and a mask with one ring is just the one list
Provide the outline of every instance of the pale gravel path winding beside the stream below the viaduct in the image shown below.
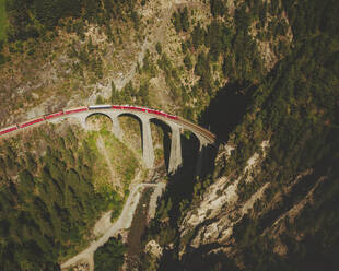
[[61,263],[61,270],[75,266],[79,262],[85,261],[89,262],[90,271],[94,270],[94,252],[95,250],[103,246],[112,236],[115,236],[120,229],[129,228],[133,219],[133,214],[136,208],[138,205],[139,199],[141,197],[141,192],[145,187],[155,187],[154,190],[160,191],[164,188],[164,182],[157,184],[139,184],[136,186],[130,192],[122,212],[119,219],[108,228],[108,231],[98,239],[91,243],[90,247],[87,247],[82,252],[78,254],[73,258],[67,260]]

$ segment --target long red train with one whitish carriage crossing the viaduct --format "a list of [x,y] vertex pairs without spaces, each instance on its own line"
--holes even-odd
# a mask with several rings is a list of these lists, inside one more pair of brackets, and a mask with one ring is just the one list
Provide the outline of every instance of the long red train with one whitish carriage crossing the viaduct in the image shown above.
[[78,107],[78,108],[71,108],[71,109],[65,109],[65,110],[60,110],[57,113],[52,113],[49,115],[46,115],[44,117],[39,117],[36,119],[32,119],[28,120],[26,122],[23,123],[17,123],[15,126],[11,126],[5,128],[4,130],[0,131],[0,136],[15,131],[17,129],[22,129],[22,128],[26,128],[28,126],[33,126],[35,123],[45,121],[45,120],[49,120],[52,118],[58,118],[58,117],[62,117],[63,115],[70,115],[70,114],[75,114],[75,113],[82,113],[82,111],[86,111],[86,110],[97,110],[97,109],[120,109],[120,110],[137,110],[137,111],[143,111],[143,113],[148,113],[148,114],[154,114],[154,115],[159,115],[165,118],[170,118],[170,119],[174,119],[177,120],[178,117],[160,111],[160,110],[154,110],[154,109],[149,109],[149,108],[144,108],[144,107],[139,107],[139,106],[130,106],[130,105],[93,105],[93,106],[89,106],[89,107]]

